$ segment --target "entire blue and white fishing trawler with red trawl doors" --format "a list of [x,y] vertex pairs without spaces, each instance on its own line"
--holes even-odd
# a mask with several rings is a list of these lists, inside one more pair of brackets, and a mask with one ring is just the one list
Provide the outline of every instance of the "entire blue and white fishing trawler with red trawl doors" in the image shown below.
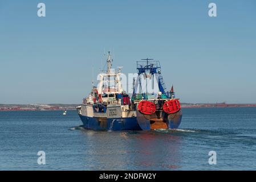
[[[112,60],[113,61],[113,60]],[[145,64],[147,63],[147,64]],[[133,78],[132,98],[121,84],[121,67],[112,69],[108,52],[107,71],[99,74],[98,86],[76,107],[83,126],[92,130],[154,130],[176,129],[181,122],[181,108],[178,99],[171,92],[165,92],[159,61],[150,59],[137,62],[138,76]],[[157,92],[143,90],[142,77],[154,77]],[[139,87],[139,89],[137,89]]]

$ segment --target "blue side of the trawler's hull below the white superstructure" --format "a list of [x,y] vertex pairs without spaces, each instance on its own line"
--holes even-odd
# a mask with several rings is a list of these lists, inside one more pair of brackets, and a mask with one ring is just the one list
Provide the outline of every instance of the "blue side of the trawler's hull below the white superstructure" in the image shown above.
[[136,117],[133,118],[92,118],[79,114],[87,129],[102,131],[141,130]]

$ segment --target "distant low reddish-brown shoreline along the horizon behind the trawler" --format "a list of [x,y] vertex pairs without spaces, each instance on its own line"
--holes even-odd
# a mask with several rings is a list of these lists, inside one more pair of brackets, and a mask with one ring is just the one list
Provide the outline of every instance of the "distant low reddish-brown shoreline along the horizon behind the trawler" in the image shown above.
[[[79,104],[0,104],[0,111],[45,111],[45,110],[76,110]],[[216,107],[256,107],[256,104],[190,104],[181,103],[182,108],[216,108]]]

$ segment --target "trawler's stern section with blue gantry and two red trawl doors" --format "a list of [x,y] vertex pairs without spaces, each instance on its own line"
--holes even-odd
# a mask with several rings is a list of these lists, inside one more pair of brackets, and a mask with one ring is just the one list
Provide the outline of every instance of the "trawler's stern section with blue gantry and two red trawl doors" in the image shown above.
[[[153,59],[137,61],[137,72],[138,77],[133,84],[132,105],[136,109],[136,118],[141,129],[177,129],[182,118],[180,101],[175,98],[173,86],[170,92],[166,91],[160,62]],[[152,92],[148,92],[147,86],[144,86],[146,90],[143,88],[143,78],[146,84],[147,79],[155,81]]]

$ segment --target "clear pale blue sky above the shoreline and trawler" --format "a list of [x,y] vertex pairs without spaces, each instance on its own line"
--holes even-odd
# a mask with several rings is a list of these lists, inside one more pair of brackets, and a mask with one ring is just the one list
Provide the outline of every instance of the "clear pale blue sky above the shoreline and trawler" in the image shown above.
[[[217,17],[208,16],[210,2]],[[159,60],[181,102],[256,103],[253,0],[0,0],[0,103],[79,104],[104,49],[124,73]]]

